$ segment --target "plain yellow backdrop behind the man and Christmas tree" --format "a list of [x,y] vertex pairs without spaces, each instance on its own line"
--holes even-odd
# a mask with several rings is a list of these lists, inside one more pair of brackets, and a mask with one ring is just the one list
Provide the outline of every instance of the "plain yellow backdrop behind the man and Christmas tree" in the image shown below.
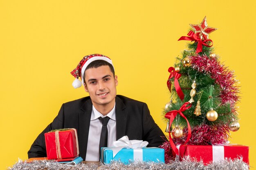
[[256,2],[234,0],[1,0],[0,169],[27,159],[63,102],[88,94],[70,72],[87,54],[113,60],[117,93],[144,101],[164,131],[168,68],[186,48],[189,24],[207,16],[221,61],[240,80],[240,130],[232,143],[255,144]]

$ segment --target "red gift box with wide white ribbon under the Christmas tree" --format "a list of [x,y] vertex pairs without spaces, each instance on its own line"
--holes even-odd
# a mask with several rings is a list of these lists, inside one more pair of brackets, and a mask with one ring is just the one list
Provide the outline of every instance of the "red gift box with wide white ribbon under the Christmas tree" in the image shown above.
[[243,157],[243,161],[249,164],[249,147],[243,145],[180,145],[177,161],[182,161],[184,156],[190,156],[197,161],[202,160],[204,164],[224,160],[225,158],[236,159]]

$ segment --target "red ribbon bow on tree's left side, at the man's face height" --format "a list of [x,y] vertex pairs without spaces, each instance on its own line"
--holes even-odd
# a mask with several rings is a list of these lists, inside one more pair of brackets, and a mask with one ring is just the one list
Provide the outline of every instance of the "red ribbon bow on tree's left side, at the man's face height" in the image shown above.
[[171,92],[171,81],[170,78],[174,77],[174,87],[176,89],[176,92],[178,94],[178,96],[180,97],[180,100],[183,101],[184,99],[184,93],[182,92],[182,89],[180,88],[180,84],[178,82],[178,79],[181,77],[181,74],[179,74],[178,72],[175,72],[175,68],[170,67],[168,69],[168,72],[170,73],[170,76],[167,80],[167,87],[169,89],[169,91]]

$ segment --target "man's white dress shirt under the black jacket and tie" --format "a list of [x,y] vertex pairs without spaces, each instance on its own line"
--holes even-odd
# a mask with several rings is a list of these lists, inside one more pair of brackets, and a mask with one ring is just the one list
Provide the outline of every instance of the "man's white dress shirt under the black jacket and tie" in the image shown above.
[[[116,104],[115,104],[116,106]],[[85,161],[99,161],[99,140],[101,138],[101,121],[99,117],[105,118],[109,117],[108,121],[108,147],[113,146],[113,142],[116,141],[116,111],[114,108],[106,115],[103,116],[95,107],[92,105],[92,116],[90,121],[90,129],[88,135],[88,144]]]

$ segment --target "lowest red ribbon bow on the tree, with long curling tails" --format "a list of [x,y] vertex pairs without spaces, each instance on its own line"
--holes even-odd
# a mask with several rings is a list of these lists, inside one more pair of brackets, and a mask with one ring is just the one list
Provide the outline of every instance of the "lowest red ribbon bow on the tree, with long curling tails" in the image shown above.
[[[190,105],[189,105],[190,104]],[[187,107],[187,105],[189,105]],[[170,119],[170,125],[169,125],[169,129],[171,129],[171,124],[174,120],[174,118],[177,116],[177,114],[179,113],[180,116],[182,116],[182,118],[184,118],[188,124],[188,137],[186,138],[186,142],[184,144],[186,144],[187,142],[189,142],[190,140],[190,137],[191,137],[191,128],[190,128],[190,124],[189,124],[189,121],[186,119],[186,116],[182,113],[183,111],[189,109],[191,107],[191,103],[190,102],[185,102],[182,107],[180,107],[179,110],[173,110],[173,111],[169,111],[165,114],[165,118],[167,119]],[[173,139],[171,138],[171,132],[169,131],[169,140],[170,140],[170,144],[171,144],[171,147],[173,148],[174,152],[179,155],[179,150],[178,148],[175,146],[175,144],[173,143]]]

